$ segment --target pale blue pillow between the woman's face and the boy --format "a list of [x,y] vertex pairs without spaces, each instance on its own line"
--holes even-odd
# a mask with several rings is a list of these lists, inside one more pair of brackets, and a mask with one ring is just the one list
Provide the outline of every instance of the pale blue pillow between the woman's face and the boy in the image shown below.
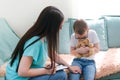
[[59,53],[70,53],[69,25],[70,23],[66,21],[62,27],[62,30],[60,30]]

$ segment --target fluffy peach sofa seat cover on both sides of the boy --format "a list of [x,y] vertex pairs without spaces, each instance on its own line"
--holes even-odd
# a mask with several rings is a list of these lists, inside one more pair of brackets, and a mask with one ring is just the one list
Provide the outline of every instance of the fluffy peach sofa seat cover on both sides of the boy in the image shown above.
[[[73,56],[60,54],[60,56],[71,64]],[[112,48],[108,51],[100,51],[95,55],[96,79],[120,72],[120,48]]]

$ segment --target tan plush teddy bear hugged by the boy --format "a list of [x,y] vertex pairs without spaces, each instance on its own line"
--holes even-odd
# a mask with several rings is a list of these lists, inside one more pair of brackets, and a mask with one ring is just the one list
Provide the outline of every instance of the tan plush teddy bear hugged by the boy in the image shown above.
[[80,57],[89,57],[92,54],[94,54],[94,50],[93,50],[93,44],[89,42],[89,39],[78,39],[78,43],[76,45],[76,49],[80,48],[80,47],[89,47],[90,50],[88,51],[88,53],[84,53],[84,54],[79,54],[77,55],[78,58]]

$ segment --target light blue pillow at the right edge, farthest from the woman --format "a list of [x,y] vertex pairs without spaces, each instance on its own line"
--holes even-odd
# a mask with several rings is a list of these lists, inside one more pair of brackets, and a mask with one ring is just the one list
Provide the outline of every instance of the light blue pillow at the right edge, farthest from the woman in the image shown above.
[[120,16],[105,16],[108,31],[108,46],[120,47]]

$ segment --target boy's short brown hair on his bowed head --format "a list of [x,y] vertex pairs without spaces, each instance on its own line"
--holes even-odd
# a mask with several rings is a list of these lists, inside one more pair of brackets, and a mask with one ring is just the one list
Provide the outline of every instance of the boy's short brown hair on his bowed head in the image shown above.
[[83,19],[76,20],[73,29],[75,33],[82,35],[88,29],[88,25]]

